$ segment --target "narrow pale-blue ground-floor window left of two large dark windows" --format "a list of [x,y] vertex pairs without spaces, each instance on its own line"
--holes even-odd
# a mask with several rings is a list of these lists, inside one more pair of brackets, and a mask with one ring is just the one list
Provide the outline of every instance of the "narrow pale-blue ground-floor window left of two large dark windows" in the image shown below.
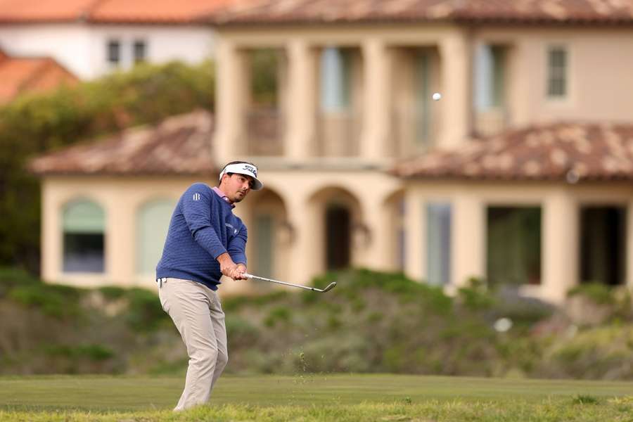
[[451,204],[426,205],[426,276],[435,286],[448,284],[451,279],[451,220]]

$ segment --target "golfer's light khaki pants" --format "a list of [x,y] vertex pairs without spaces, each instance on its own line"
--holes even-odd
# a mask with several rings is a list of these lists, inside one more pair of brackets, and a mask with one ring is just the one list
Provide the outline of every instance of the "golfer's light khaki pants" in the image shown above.
[[184,391],[174,408],[184,410],[209,400],[229,362],[224,312],[217,293],[196,281],[164,278],[158,286],[160,305],[176,324],[189,356]]

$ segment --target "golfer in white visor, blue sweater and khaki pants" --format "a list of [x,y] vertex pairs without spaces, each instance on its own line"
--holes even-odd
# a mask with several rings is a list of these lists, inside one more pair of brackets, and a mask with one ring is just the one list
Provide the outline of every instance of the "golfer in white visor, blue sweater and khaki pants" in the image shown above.
[[172,215],[156,278],[162,309],[176,324],[189,357],[174,411],[206,403],[229,362],[217,287],[223,274],[246,279],[246,227],[233,208],[262,187],[255,165],[229,162],[220,172],[219,186],[189,186]]

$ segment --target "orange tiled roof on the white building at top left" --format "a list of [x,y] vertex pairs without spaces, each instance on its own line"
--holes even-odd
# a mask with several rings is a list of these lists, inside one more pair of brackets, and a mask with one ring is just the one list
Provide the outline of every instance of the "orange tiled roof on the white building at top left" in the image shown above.
[[191,23],[230,0],[0,0],[0,22]]

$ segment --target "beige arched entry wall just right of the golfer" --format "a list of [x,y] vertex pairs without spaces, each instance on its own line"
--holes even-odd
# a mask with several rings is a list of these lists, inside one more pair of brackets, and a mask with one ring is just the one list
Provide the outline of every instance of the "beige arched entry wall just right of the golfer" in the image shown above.
[[[309,283],[325,269],[324,207],[343,203],[350,208],[352,224],[369,229],[369,240],[359,227],[352,231],[352,263],[376,269],[393,269],[389,245],[395,233],[385,230],[392,212],[390,199],[401,182],[381,172],[363,170],[274,170],[260,167],[266,188],[281,200],[293,230],[293,241],[282,251],[287,257],[280,278]],[[236,215],[252,212],[257,192],[237,207]],[[248,222],[248,216],[245,216]]]

